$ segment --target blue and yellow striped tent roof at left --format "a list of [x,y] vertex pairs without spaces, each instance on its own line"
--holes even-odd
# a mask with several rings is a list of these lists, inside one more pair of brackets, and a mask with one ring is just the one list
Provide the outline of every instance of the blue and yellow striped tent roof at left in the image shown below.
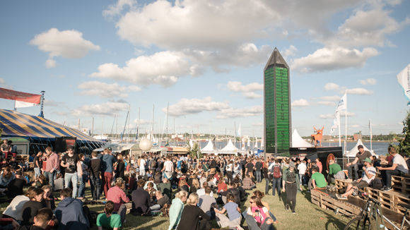
[[0,109],[0,128],[2,136],[18,136],[30,138],[76,137],[76,140],[100,142],[74,128],[40,116],[22,114],[18,111]]

